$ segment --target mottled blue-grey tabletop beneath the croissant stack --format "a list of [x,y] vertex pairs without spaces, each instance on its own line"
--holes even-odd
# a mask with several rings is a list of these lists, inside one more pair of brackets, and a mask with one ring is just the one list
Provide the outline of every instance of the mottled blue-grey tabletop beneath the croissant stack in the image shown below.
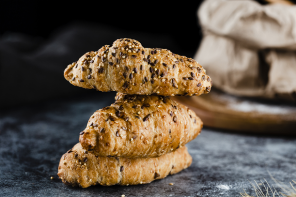
[[[266,178],[272,183],[268,171],[286,184],[296,179],[295,137],[203,129],[187,145],[192,165],[176,175],[138,186],[64,185],[57,176],[61,156],[78,141],[90,115],[110,105],[113,96],[105,93],[1,110],[0,197],[236,197],[243,189],[255,196],[247,179]],[[221,185],[229,189],[220,189]]]

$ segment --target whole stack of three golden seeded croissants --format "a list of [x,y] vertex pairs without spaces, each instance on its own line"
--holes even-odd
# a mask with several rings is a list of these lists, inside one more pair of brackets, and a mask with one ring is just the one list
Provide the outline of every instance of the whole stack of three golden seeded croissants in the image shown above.
[[110,107],[90,117],[80,143],[61,158],[63,183],[145,184],[191,164],[184,145],[203,123],[168,96],[210,92],[212,80],[197,62],[125,38],[84,54],[64,75],[75,86],[118,93]]

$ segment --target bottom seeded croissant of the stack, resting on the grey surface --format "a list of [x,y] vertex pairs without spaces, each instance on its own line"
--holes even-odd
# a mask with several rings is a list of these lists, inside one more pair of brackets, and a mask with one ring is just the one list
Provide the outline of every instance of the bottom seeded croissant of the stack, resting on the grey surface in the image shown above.
[[162,179],[190,166],[191,156],[184,146],[159,158],[97,157],[76,144],[60,160],[58,175],[63,183],[87,188],[92,185],[136,185]]

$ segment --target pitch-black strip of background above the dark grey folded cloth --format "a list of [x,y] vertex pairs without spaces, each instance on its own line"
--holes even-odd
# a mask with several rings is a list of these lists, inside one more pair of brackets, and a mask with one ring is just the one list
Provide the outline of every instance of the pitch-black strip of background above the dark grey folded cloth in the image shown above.
[[[265,4],[264,0],[257,1]],[[201,2],[79,1],[57,4],[35,0],[6,0],[0,6],[0,35],[17,32],[46,39],[53,31],[70,23],[93,22],[98,26],[105,25],[125,31],[164,33],[173,37],[178,47],[195,51],[201,38],[196,17]]]

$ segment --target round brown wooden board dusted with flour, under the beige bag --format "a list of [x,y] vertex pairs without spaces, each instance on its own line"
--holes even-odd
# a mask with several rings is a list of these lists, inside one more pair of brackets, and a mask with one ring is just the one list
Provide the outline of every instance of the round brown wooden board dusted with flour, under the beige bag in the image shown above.
[[219,91],[199,97],[171,97],[190,107],[204,126],[252,133],[296,135],[296,105],[266,103]]

